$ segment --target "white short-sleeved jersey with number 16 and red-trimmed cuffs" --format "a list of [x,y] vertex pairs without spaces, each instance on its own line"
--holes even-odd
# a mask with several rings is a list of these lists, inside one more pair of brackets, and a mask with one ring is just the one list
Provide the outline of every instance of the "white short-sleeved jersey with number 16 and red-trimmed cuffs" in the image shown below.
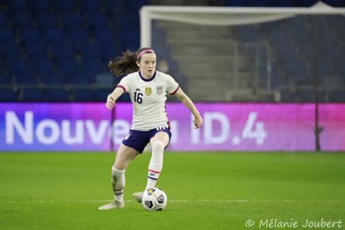
[[133,104],[132,129],[149,131],[153,128],[168,128],[166,95],[174,95],[179,84],[170,75],[155,71],[150,79],[144,79],[140,71],[121,79],[117,85],[130,94]]

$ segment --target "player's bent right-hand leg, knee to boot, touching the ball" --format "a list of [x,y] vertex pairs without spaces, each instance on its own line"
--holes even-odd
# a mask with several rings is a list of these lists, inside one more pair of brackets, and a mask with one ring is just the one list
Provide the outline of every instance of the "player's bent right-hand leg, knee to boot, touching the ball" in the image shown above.
[[[150,164],[148,164],[148,182],[146,189],[155,187],[161,169],[163,167],[163,153],[164,148],[168,146],[170,137],[166,132],[158,132],[150,139],[150,146],[152,148],[152,155]],[[145,190],[146,190],[145,189]],[[133,197],[141,202],[143,192],[133,193]]]

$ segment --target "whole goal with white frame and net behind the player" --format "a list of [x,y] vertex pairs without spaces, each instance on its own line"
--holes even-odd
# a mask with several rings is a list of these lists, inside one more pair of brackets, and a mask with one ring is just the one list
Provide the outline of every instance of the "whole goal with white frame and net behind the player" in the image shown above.
[[199,102],[345,102],[345,9],[141,8],[141,47]]

